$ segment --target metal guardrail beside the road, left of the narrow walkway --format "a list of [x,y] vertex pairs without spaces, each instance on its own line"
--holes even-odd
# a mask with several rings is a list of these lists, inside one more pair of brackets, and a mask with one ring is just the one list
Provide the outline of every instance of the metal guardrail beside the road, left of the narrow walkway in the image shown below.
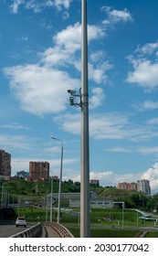
[[40,222],[37,225],[26,229],[22,232],[17,233],[16,235],[11,236],[10,238],[39,238],[42,234],[42,225]]

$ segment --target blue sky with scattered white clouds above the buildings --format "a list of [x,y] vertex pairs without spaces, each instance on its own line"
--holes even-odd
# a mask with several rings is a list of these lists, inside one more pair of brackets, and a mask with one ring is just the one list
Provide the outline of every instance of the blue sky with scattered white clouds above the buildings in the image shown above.
[[[90,178],[158,190],[158,1],[88,1]],[[0,1],[0,148],[12,176],[48,161],[79,181],[80,0]]]

